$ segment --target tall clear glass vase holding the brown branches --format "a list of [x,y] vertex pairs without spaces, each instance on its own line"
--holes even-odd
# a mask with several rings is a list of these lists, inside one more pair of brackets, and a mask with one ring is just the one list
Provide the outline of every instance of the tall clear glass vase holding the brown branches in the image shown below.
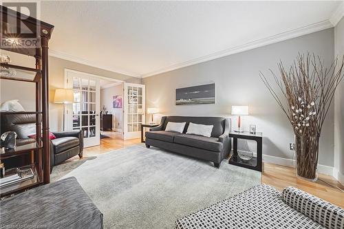
[[297,176],[315,182],[318,179],[319,136],[309,133],[295,137]]

